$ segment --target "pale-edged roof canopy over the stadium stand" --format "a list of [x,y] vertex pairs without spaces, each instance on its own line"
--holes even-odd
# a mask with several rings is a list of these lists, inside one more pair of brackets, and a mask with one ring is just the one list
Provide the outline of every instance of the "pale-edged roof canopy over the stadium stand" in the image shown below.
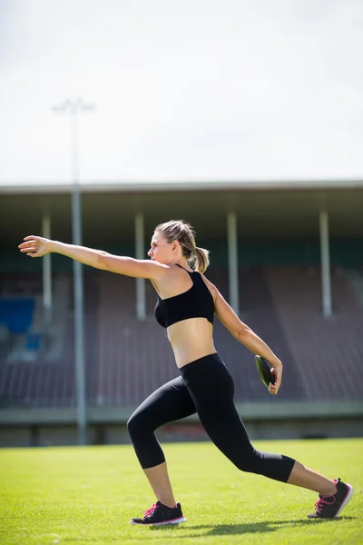
[[[72,183],[0,185],[0,228],[6,242],[40,233],[45,213],[52,233],[71,240]],[[363,180],[284,182],[81,183],[83,241],[130,241],[135,214],[142,213],[145,235],[171,218],[190,221],[197,233],[226,236],[226,215],[236,213],[240,239],[319,236],[319,213],[329,214],[329,232],[363,236]]]

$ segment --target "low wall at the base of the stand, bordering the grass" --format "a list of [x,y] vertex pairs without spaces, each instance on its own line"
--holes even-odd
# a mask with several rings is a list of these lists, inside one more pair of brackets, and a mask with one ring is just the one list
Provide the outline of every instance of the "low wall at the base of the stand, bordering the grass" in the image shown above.
[[[329,403],[237,404],[250,439],[328,439],[361,437],[360,401]],[[90,409],[89,444],[130,444],[126,421],[130,410]],[[197,417],[171,422],[156,431],[159,441],[209,441]],[[6,411],[0,421],[0,447],[76,445],[73,410]]]

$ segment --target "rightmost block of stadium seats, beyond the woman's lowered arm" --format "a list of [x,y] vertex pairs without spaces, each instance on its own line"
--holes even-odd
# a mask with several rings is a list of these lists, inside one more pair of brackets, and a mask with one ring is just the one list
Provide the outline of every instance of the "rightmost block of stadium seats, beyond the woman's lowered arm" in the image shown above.
[[307,399],[361,399],[363,305],[346,273],[331,274],[333,315],[321,312],[319,267],[268,267],[269,285],[282,331]]

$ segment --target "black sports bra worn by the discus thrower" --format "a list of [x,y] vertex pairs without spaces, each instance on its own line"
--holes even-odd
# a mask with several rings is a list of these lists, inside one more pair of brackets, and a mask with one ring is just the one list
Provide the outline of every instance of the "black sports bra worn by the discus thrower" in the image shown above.
[[[177,265],[184,269],[181,265]],[[189,318],[206,318],[208,322],[213,323],[214,318],[214,301],[211,292],[201,278],[200,272],[189,272],[191,288],[187,292],[161,299],[158,296],[158,301],[155,306],[155,318],[162,327],[169,327],[173,323],[182,322]]]

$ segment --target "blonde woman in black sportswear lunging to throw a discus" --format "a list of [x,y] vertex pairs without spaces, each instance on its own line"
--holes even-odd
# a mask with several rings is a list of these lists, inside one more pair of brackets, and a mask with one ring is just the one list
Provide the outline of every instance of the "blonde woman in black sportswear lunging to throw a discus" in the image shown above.
[[131,523],[159,525],[186,520],[181,504],[175,501],[154,431],[194,413],[198,413],[211,441],[241,471],[315,490],[319,500],[309,518],[336,517],[350,500],[351,485],[327,479],[289,456],[257,451],[251,445],[233,402],[231,374],[214,348],[214,315],[247,349],[270,362],[275,377],[275,383],[269,386],[272,395],[280,389],[282,363],[240,321],[217,287],[204,276],[209,255],[196,246],[194,236],[191,225],[182,220],[158,225],[148,252],[150,260],[121,257],[39,236],[27,236],[19,245],[20,251],[31,257],[61,253],[97,269],[147,278],[157,292],[155,317],[167,330],[179,376],[154,391],[128,421],[133,447],[156,497],[143,517],[134,518]]

